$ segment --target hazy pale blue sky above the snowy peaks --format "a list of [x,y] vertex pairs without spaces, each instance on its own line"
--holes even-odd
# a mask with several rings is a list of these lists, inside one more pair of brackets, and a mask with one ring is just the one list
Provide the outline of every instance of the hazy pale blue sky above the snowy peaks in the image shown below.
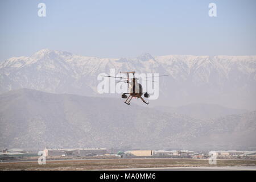
[[[210,2],[217,17],[208,15]],[[0,21],[0,60],[43,48],[98,57],[256,55],[254,0],[1,0]]]

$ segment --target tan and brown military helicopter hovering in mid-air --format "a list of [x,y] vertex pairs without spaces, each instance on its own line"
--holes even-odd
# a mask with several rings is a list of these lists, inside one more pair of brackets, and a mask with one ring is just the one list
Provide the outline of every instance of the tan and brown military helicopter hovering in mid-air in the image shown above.
[[[125,80],[121,80],[121,81],[117,81],[117,82],[126,82],[129,86],[129,93],[123,93],[122,94],[122,98],[126,98],[125,104],[130,105],[131,99],[132,98],[141,98],[141,100],[145,103],[148,104],[148,102],[146,102],[143,98],[142,95],[144,94],[145,98],[150,97],[150,95],[147,92],[143,93],[143,89],[142,89],[142,85],[138,83],[137,80],[139,80],[138,78],[136,78],[134,76],[135,71],[133,72],[120,72],[127,74],[127,77],[116,77],[116,76],[103,76],[103,77],[110,77],[110,78],[121,78],[121,79],[125,79]],[[129,78],[129,74],[133,74],[133,78]],[[160,75],[160,76],[168,76],[168,75]],[[158,76],[158,77],[160,77]],[[154,76],[155,77],[155,76]],[[150,77],[145,77],[145,78],[150,78]],[[146,81],[151,81],[151,80],[146,80]],[[154,82],[154,81],[152,81]],[[129,94],[129,96],[127,97],[126,94]]]

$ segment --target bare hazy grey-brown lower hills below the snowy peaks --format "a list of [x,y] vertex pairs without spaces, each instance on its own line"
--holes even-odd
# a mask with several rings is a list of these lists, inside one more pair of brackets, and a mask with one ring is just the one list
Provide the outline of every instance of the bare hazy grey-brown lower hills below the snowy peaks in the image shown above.
[[256,111],[195,119],[121,98],[18,89],[0,94],[0,148],[255,150]]

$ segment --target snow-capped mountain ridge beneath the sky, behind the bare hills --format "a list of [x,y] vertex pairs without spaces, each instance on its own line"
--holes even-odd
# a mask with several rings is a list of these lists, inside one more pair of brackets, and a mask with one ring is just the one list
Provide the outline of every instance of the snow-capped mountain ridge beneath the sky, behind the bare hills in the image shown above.
[[[43,49],[30,57],[0,64],[0,93],[31,88],[51,93],[102,96],[97,76],[119,71],[168,74],[159,78],[159,99],[152,105],[194,102],[256,109],[256,56],[151,56],[102,59]],[[105,96],[105,95],[104,95]],[[109,96],[109,95],[108,95]]]

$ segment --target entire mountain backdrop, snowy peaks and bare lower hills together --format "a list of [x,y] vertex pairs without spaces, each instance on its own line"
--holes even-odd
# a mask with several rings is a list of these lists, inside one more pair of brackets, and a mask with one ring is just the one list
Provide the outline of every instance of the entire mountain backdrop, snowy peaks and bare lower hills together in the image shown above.
[[[168,76],[158,100],[127,106],[97,92],[113,68]],[[11,57],[0,63],[0,147],[255,150],[255,74],[256,56]]]

